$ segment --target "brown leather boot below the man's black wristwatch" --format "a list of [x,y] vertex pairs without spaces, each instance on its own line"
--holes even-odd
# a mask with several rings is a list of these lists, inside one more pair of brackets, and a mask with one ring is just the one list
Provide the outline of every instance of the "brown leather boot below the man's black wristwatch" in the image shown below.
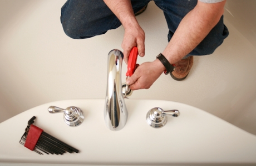
[[184,80],[188,74],[190,69],[193,66],[193,56],[189,56],[186,59],[181,59],[180,61],[175,63],[175,69],[171,72],[171,77],[174,80],[182,81]]

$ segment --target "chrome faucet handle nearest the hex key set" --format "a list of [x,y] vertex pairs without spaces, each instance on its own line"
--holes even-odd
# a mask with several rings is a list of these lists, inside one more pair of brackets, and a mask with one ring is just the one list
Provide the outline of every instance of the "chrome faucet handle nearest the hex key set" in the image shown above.
[[56,106],[50,106],[48,108],[48,112],[50,113],[60,113],[63,112],[63,119],[66,122],[68,126],[78,126],[83,122],[84,116],[83,112],[80,108],[78,107],[67,107],[66,109],[56,107]]

